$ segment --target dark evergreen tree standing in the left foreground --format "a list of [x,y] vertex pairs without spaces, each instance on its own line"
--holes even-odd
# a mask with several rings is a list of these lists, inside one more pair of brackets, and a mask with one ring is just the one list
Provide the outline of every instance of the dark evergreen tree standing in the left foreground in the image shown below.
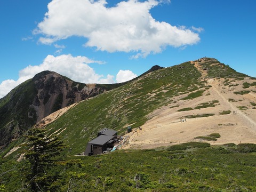
[[51,168],[62,161],[61,151],[66,148],[58,135],[46,137],[45,130],[33,128],[26,136],[25,172],[26,185],[31,191],[55,191],[60,176]]

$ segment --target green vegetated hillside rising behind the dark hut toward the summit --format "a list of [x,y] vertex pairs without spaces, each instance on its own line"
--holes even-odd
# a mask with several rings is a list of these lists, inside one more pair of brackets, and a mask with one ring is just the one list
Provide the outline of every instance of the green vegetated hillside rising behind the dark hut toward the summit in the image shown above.
[[107,127],[122,134],[126,127],[138,127],[153,110],[172,103],[172,98],[204,90],[205,82],[190,62],[153,71],[132,83],[80,102],[57,121],[48,125],[50,133],[59,132],[70,146],[71,154],[82,153],[97,131]]

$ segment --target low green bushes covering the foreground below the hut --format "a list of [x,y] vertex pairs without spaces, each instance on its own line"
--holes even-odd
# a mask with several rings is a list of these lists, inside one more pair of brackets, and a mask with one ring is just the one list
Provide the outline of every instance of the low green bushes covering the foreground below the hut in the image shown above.
[[[188,142],[178,150],[70,156],[67,160],[79,163],[47,171],[60,174],[59,191],[255,191],[256,145],[227,144]],[[26,191],[20,177],[23,162],[1,159],[0,164],[1,190]]]

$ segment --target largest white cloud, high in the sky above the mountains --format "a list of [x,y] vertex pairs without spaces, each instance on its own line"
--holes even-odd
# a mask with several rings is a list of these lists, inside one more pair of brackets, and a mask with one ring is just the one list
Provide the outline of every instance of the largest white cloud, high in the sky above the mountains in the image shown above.
[[129,0],[107,7],[105,0],[53,0],[34,33],[43,35],[39,38],[43,44],[81,36],[87,38],[84,46],[108,52],[137,52],[134,58],[162,52],[166,46],[199,42],[199,35],[186,27],[156,21],[150,9],[160,3],[170,1]]

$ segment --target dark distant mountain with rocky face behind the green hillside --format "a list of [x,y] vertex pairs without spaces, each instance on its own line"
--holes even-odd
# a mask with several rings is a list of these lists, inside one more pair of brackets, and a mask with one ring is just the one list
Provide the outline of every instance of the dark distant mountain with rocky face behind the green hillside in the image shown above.
[[[155,66],[145,74],[159,68]],[[84,84],[53,71],[35,75],[0,99],[0,148],[18,139],[23,132],[54,111],[126,83]]]

